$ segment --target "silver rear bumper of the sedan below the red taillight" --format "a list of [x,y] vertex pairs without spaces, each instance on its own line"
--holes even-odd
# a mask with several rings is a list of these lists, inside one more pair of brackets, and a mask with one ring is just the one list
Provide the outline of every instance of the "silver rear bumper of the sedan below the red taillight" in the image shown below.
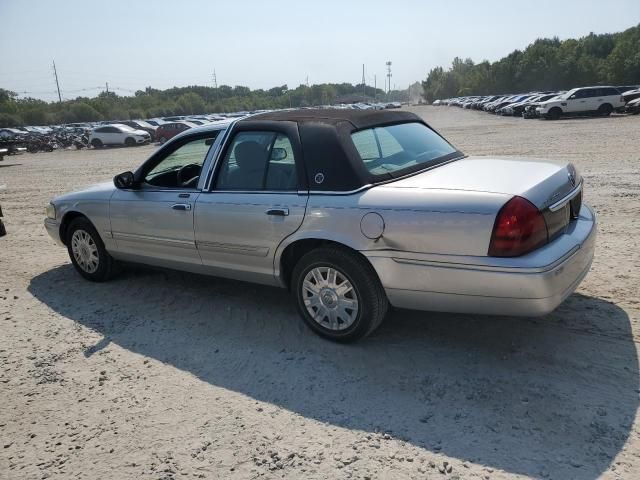
[[522,257],[364,253],[396,307],[539,316],[553,311],[586,276],[595,238],[595,214],[583,205],[567,233]]

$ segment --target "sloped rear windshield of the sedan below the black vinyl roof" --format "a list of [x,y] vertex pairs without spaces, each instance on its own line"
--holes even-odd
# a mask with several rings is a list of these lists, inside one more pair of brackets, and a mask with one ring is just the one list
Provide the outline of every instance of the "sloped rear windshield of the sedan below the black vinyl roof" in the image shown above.
[[418,122],[367,128],[352,133],[351,139],[372,175],[427,167],[458,153],[440,135]]

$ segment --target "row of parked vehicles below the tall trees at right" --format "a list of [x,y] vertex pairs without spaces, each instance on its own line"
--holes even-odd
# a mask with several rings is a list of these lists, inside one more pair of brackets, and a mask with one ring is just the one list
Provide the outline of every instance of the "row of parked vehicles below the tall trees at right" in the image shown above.
[[483,110],[497,115],[557,120],[564,116],[640,113],[640,88],[635,86],[579,87],[569,91],[545,91],[515,95],[483,95],[436,100],[449,105]]

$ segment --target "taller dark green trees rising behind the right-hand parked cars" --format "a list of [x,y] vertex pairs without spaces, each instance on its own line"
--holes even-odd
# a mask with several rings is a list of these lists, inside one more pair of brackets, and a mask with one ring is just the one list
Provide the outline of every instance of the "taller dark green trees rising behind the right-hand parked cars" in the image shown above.
[[579,39],[541,38],[496,62],[456,57],[422,82],[424,98],[569,90],[588,85],[640,83],[640,24],[623,32]]

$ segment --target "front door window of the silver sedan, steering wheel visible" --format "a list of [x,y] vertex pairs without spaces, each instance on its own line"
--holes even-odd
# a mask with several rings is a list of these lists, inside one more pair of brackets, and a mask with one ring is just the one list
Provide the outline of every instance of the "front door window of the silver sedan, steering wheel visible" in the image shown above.
[[149,170],[144,182],[163,188],[195,188],[202,164],[218,132],[180,145]]

